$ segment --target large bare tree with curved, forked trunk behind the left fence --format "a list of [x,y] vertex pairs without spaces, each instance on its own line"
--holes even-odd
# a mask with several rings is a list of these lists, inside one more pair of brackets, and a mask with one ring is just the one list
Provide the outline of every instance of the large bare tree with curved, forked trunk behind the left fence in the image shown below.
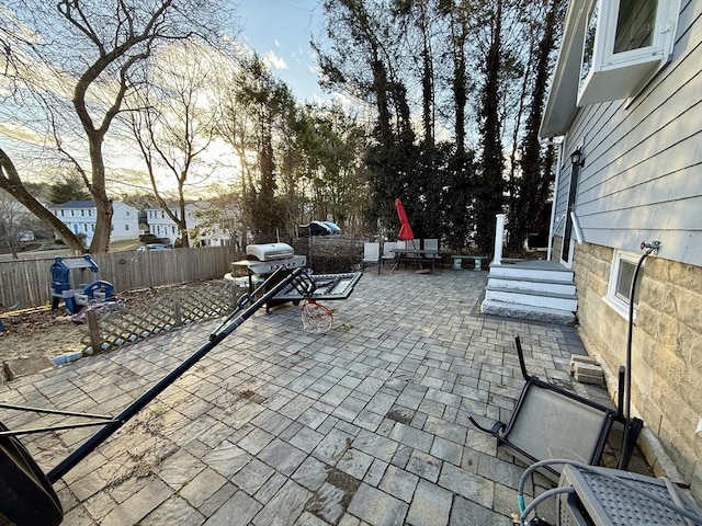
[[[22,90],[35,95],[33,104],[46,110],[58,150],[82,174],[93,197],[97,224],[91,252],[104,252],[110,243],[113,208],[106,187],[105,138],[125,98],[143,82],[144,61],[163,42],[216,35],[226,20],[222,4],[213,0],[14,2],[15,14],[38,38],[3,33],[5,54],[42,65],[43,75],[10,71]],[[67,90],[70,112],[61,111]],[[78,119],[78,126],[71,118]],[[65,134],[75,129],[80,134],[69,140]],[[84,146],[76,147],[73,141]],[[5,190],[16,193],[15,197],[22,195],[16,184]]]

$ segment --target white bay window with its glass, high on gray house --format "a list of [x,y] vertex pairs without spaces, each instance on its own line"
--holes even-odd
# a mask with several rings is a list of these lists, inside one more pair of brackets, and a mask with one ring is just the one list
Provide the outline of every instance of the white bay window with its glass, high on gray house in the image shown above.
[[578,105],[638,93],[669,60],[680,0],[597,0],[588,11]]

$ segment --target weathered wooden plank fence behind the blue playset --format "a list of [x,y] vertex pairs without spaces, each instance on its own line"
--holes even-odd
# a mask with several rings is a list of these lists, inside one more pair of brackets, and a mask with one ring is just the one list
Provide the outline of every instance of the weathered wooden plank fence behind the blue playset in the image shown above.
[[[199,282],[223,277],[237,254],[230,247],[109,252],[93,254],[100,271],[70,272],[71,285],[95,279],[110,282],[115,294],[146,287]],[[50,301],[50,267],[54,258],[0,262],[0,305],[18,304],[18,309]],[[81,274],[82,273],[82,274]],[[2,309],[0,309],[2,310]]]

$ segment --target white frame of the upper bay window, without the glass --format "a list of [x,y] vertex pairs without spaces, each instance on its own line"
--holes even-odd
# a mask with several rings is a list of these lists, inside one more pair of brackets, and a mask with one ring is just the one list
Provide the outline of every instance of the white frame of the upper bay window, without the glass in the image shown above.
[[[635,96],[648,81],[670,60],[675,41],[680,0],[657,0],[653,42],[648,46],[614,53],[616,25],[621,0],[596,0],[587,11],[587,27],[597,10],[595,47],[587,75],[578,88],[578,106],[596,102]],[[582,45],[585,61],[587,45]],[[582,67],[582,66],[581,66]]]

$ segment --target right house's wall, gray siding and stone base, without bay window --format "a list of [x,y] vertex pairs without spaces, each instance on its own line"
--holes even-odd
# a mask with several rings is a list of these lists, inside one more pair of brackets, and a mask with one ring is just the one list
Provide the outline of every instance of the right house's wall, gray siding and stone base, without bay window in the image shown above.
[[[577,12],[584,0],[568,3]],[[558,59],[542,124],[548,137],[564,136],[553,245],[563,241],[557,227],[567,211],[569,156],[581,147],[574,211],[584,243],[575,244],[571,262],[578,333],[610,373],[616,399],[629,318],[612,302],[613,271],[619,258],[638,259],[642,241],[659,240],[637,295],[632,407],[645,422],[644,436],[663,445],[702,503],[702,438],[695,435],[702,418],[702,1],[681,2],[670,62],[630,100],[576,108],[568,77],[576,55]],[[646,450],[656,474],[664,474],[656,471],[658,453]]]

